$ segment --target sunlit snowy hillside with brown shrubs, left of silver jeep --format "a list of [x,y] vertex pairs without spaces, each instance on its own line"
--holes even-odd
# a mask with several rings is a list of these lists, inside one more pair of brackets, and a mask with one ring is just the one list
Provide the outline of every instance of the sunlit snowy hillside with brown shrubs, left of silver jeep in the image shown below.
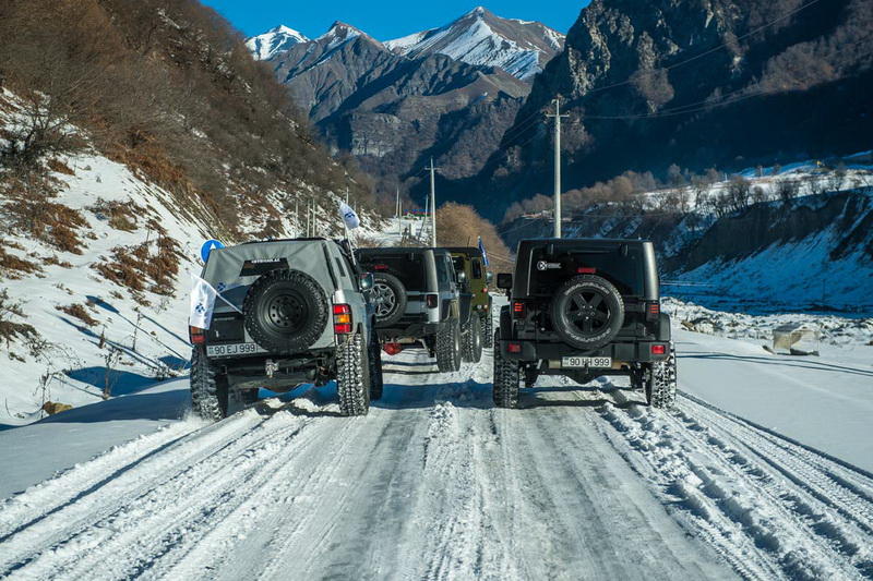
[[[16,120],[14,96],[2,96],[0,130]],[[57,213],[57,235],[10,228],[0,239],[0,324],[19,329],[0,344],[0,426],[46,416],[49,401],[77,408],[187,373],[189,273],[200,271],[201,244],[220,238],[205,208],[122,164],[82,153],[49,166],[56,192],[44,211]],[[271,207],[240,210],[244,238],[262,238],[268,222],[300,233],[282,209],[287,193],[265,199]],[[319,204],[316,231],[337,234],[338,198]],[[4,229],[21,219],[10,206],[0,215]]]

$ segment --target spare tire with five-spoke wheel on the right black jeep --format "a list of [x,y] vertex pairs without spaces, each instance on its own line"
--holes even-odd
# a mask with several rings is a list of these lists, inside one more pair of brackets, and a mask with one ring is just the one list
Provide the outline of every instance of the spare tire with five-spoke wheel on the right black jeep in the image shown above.
[[619,290],[596,275],[573,277],[552,300],[552,327],[570,346],[597,349],[615,338],[624,324]]

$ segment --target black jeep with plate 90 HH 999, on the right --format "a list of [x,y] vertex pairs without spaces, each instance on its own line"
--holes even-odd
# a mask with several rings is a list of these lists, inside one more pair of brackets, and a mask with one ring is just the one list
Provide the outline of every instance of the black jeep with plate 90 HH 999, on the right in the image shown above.
[[498,275],[498,287],[510,291],[494,334],[498,407],[517,408],[522,382],[533,387],[539,375],[626,375],[648,404],[673,404],[675,354],[651,242],[523,240],[515,276]]

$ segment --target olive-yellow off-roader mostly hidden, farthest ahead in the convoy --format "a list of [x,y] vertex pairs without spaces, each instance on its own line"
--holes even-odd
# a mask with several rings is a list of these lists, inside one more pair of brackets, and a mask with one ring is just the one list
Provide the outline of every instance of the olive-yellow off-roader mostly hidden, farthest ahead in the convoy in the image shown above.
[[491,273],[485,266],[482,251],[470,247],[445,249],[452,254],[455,271],[463,276],[463,291],[473,295],[470,301],[470,319],[466,329],[462,329],[464,360],[479,361],[482,347],[492,347],[494,329],[491,322],[491,294],[488,285]]

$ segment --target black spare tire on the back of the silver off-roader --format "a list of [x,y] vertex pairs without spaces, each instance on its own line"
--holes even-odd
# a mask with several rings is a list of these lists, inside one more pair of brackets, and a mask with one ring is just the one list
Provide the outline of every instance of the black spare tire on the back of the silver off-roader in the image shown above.
[[327,325],[321,286],[300,270],[273,270],[249,289],[242,311],[246,330],[272,353],[297,353],[314,343]]

